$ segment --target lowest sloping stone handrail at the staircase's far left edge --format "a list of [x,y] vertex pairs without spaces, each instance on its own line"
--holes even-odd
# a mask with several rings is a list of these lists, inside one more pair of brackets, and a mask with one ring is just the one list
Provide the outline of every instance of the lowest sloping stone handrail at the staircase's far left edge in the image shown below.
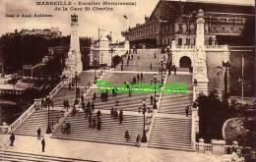
[[38,105],[34,102],[32,106],[20,116],[20,118],[9,126],[8,133],[12,133],[18,126],[20,126],[32,114],[32,112],[38,108],[37,106]]

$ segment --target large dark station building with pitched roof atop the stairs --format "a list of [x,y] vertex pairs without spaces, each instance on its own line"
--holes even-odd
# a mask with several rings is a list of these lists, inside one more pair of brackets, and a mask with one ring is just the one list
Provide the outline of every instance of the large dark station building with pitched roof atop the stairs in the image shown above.
[[129,27],[122,35],[136,46],[166,47],[172,40],[180,46],[195,45],[200,9],[204,11],[206,45],[252,45],[253,41],[240,38],[253,26],[254,7],[241,4],[160,0],[144,24]]

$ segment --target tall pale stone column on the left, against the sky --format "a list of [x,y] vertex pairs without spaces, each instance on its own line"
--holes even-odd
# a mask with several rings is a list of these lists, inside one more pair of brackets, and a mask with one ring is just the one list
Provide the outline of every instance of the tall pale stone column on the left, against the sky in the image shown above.
[[78,27],[78,16],[73,14],[71,15],[70,48],[68,58],[65,61],[66,67],[63,71],[63,76],[67,78],[74,76],[75,72],[80,73],[83,70]]

